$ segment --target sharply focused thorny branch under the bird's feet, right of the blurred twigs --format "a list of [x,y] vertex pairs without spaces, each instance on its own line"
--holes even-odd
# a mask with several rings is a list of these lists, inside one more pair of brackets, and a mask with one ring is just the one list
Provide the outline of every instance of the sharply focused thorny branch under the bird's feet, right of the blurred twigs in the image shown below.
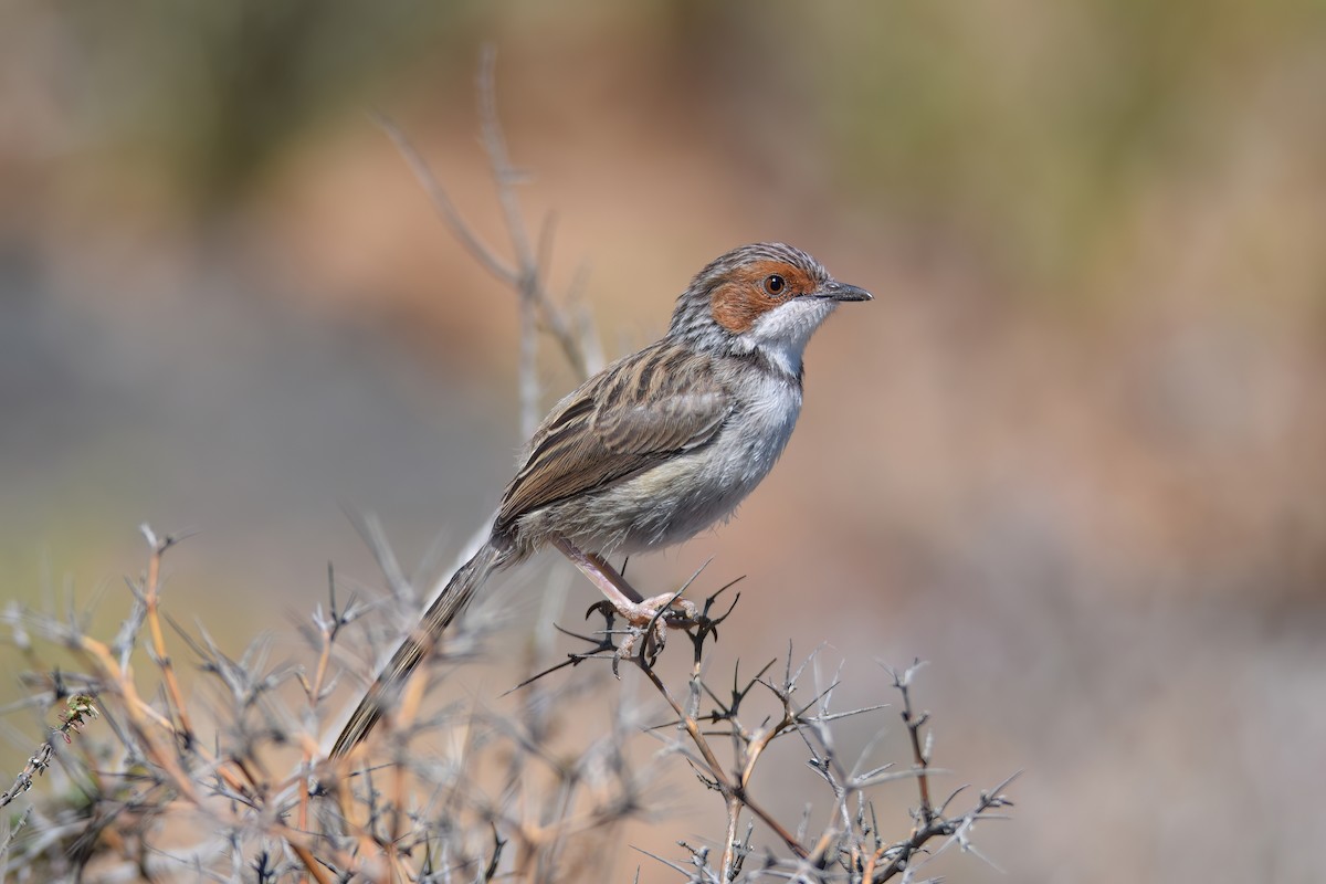
[[[695,578],[692,578],[693,580]],[[731,586],[731,584],[729,584]],[[683,587],[684,588],[684,587]],[[949,816],[948,806],[964,789],[956,790],[940,806],[935,806],[931,799],[931,778],[937,771],[931,765],[931,740],[926,726],[930,722],[928,713],[918,714],[912,708],[911,689],[916,673],[926,665],[916,660],[902,672],[887,669],[892,679],[892,687],[902,696],[900,716],[907,729],[908,741],[914,754],[914,765],[908,770],[892,770],[891,765],[869,767],[867,755],[873,751],[873,742],[862,753],[862,757],[851,767],[842,767],[833,746],[833,725],[843,718],[875,713],[883,709],[882,705],[865,706],[835,712],[831,708],[831,697],[838,681],[825,689],[818,691],[805,701],[798,701],[801,681],[818,652],[794,665],[792,648],[782,665],[782,677],[777,681],[769,677],[777,664],[776,660],[766,663],[754,676],[741,680],[739,672],[733,669],[731,688],[720,692],[709,684],[703,673],[707,671],[708,659],[705,656],[711,639],[716,637],[717,626],[732,614],[733,606],[721,616],[709,618],[715,604],[728,587],[723,587],[704,603],[704,615],[699,623],[687,628],[693,648],[692,665],[686,685],[686,700],[679,700],[679,694],[668,687],[662,673],[655,668],[656,653],[642,652],[630,657],[631,663],[643,673],[648,684],[667,702],[672,712],[672,718],[655,725],[651,732],[659,734],[664,730],[675,730],[680,736],[668,741],[671,753],[687,759],[688,765],[697,775],[699,781],[709,790],[719,793],[724,802],[727,823],[721,840],[721,852],[717,867],[711,865],[709,847],[683,847],[690,852],[690,863],[679,864],[660,859],[668,867],[680,871],[691,881],[733,881],[741,876],[743,865],[753,852],[752,836],[754,820],[768,828],[782,846],[790,851],[794,859],[777,860],[772,855],[765,860],[764,871],[781,869],[793,880],[804,881],[851,881],[875,883],[886,881],[900,873],[914,871],[915,867],[928,856],[924,854],[927,846],[935,839],[947,839],[936,852],[943,852],[951,844],[959,844],[961,850],[984,856],[976,851],[971,842],[971,834],[977,819],[997,819],[992,811],[1012,806],[1012,801],[1004,795],[1004,790],[1016,777],[1010,777],[993,790],[980,793],[976,802],[964,812]],[[542,677],[562,669],[568,665],[577,665],[593,659],[610,659],[614,673],[617,664],[622,659],[621,641],[629,636],[631,630],[614,628],[611,610],[595,606],[605,618],[605,626],[594,636],[577,636],[591,647],[579,653],[568,655],[568,660],[550,667],[525,684],[537,683]],[[652,632],[647,626],[640,630],[646,635]],[[565,632],[565,631],[564,631]],[[575,635],[565,632],[566,635]],[[640,647],[644,647],[640,644]],[[772,698],[776,710],[770,712],[768,705],[758,704],[758,696]],[[712,708],[701,712],[701,702],[708,700]],[[753,706],[753,709],[752,709]],[[748,725],[747,722],[758,722]],[[760,761],[768,747],[776,741],[789,734],[798,734],[810,751],[809,766],[818,773],[830,789],[833,812],[830,822],[821,835],[808,840],[802,826],[793,832],[772,815],[760,801],[752,794],[752,782]],[[716,742],[717,738],[717,742]],[[729,761],[724,762],[719,750],[719,744],[729,745]],[[869,767],[869,769],[867,769]],[[911,834],[898,842],[886,843],[879,836],[876,811],[871,801],[874,790],[899,779],[915,779],[918,783],[919,803],[912,811],[915,824]],[[741,818],[747,816],[743,826]],[[918,859],[918,857],[922,859]],[[988,860],[987,860],[988,861]]]

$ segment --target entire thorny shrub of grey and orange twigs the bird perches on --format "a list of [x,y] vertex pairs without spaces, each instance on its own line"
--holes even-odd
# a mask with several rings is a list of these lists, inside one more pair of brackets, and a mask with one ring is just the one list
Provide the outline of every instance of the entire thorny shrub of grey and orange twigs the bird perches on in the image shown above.
[[[149,578],[152,559],[159,574],[159,558],[171,546],[152,543],[145,573]],[[337,603],[334,580],[330,584],[330,612],[316,611],[316,628],[305,631],[320,660],[313,679],[300,680],[310,713],[304,721],[314,726],[325,714],[321,701],[328,696],[324,680],[330,645],[354,622]],[[288,680],[286,671],[267,667],[263,644],[232,659],[206,632],[187,635],[180,630],[203,679],[221,689],[223,704],[208,716],[179,716],[176,700],[166,689],[166,657],[156,651],[150,630],[145,643],[160,687],[155,701],[139,694],[131,669],[110,647],[68,623],[28,618],[41,632],[76,649],[88,667],[86,673],[53,681],[98,685],[99,697],[68,698],[61,728],[53,732],[64,741],[50,738],[38,747],[0,806],[28,791],[37,774],[57,766],[80,783],[93,811],[81,822],[62,823],[68,831],[62,842],[29,836],[8,848],[48,871],[65,868],[50,880],[72,877],[93,856],[106,854],[103,863],[118,859],[156,880],[171,880],[184,868],[225,880],[233,875],[223,868],[244,865],[260,872],[257,880],[273,883],[347,880],[353,875],[402,881],[602,880],[611,869],[611,851],[599,847],[586,854],[573,846],[618,844],[623,822],[650,811],[650,783],[670,758],[680,757],[705,789],[717,793],[724,808],[721,832],[712,843],[683,843],[684,859],[659,855],[687,881],[725,884],[768,876],[823,884],[887,881],[914,875],[932,856],[935,842],[939,848],[934,854],[956,844],[984,859],[972,840],[975,826],[997,819],[994,812],[1010,804],[1004,791],[1012,778],[980,793],[960,812],[949,806],[963,790],[941,803],[932,802],[932,778],[941,771],[932,766],[928,720],[915,713],[911,693],[922,664],[890,671],[892,687],[903,694],[902,717],[916,761],[907,770],[871,766],[866,763],[867,749],[846,767],[834,749],[837,722],[882,706],[834,709],[839,675],[808,691],[808,673],[821,652],[797,661],[789,648],[781,665],[769,661],[748,676],[733,668],[725,684],[705,676],[713,668],[719,627],[735,610],[735,602],[723,603],[729,586],[705,599],[703,615],[683,631],[692,655],[679,681],[656,665],[664,648],[625,659],[663,701],[667,713],[662,721],[656,712],[622,705],[606,734],[568,751],[557,745],[558,734],[566,730],[557,722],[603,705],[593,668],[556,687],[548,677],[554,669],[545,669],[517,689],[521,702],[508,712],[452,705],[428,713],[424,680],[419,680],[418,693],[403,701],[403,714],[391,717],[391,726],[370,742],[369,750],[381,754],[385,765],[365,767],[358,775],[345,765],[334,777],[328,770],[318,773],[320,783],[342,794],[342,810],[314,801],[320,793],[309,791],[309,773],[325,762],[317,757],[316,736],[297,724],[300,717],[281,712],[276,692]],[[146,627],[146,620],[141,623]],[[647,626],[643,630],[652,632]],[[605,619],[605,628],[587,636],[594,643],[591,652],[575,655],[575,661],[621,663],[621,647],[630,635]],[[648,651],[643,640],[635,647]],[[534,663],[532,659],[532,668]],[[609,668],[597,672],[606,675]],[[122,747],[118,765],[107,765],[105,751],[85,750],[81,758],[57,751],[61,745],[74,745],[76,737],[82,742],[80,729],[98,712]],[[213,736],[194,730],[184,738],[176,724],[217,714],[223,728]],[[647,718],[654,718],[652,724]],[[662,740],[666,749],[648,763],[635,759],[631,750],[634,734],[642,732]],[[810,770],[827,787],[822,807],[829,815],[818,835],[809,816],[796,826],[781,820],[766,804],[772,794],[761,794],[769,789],[758,777],[769,747],[793,734],[809,754]],[[412,746],[423,737],[439,736],[455,749],[438,753]],[[284,773],[271,763],[272,751],[281,745],[302,749],[302,761]],[[492,773],[499,774],[496,779]],[[920,804],[911,832],[888,842],[874,801],[878,790],[899,779],[918,782]],[[316,823],[314,812],[322,823]],[[158,847],[156,823],[167,816],[176,824],[192,819],[198,842]],[[33,816],[29,808],[21,819],[29,818],[28,831],[54,826],[41,811]],[[328,819],[334,824],[326,824]],[[312,834],[316,828],[325,834]],[[762,843],[766,835],[772,835],[769,844]],[[54,852],[42,847],[60,843],[66,847]]]

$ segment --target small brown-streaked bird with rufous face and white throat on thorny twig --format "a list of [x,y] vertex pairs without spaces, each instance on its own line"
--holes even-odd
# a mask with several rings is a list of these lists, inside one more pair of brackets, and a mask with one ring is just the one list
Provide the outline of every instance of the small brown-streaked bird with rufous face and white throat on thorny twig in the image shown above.
[[660,612],[693,620],[693,604],[676,594],[643,598],[607,557],[667,547],[727,521],[788,444],[810,335],[839,304],[871,297],[785,243],[743,245],[705,265],[663,338],[544,417],[487,541],[382,668],[330,757],[349,754],[394,706],[489,577],[541,547],[566,555],[633,626],[658,628]]

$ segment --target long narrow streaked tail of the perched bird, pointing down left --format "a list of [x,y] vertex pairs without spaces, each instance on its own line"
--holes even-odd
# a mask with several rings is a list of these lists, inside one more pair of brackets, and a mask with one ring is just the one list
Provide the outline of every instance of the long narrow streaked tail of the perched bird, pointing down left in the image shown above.
[[373,687],[363,694],[363,700],[359,701],[350,721],[341,730],[341,736],[335,738],[335,745],[332,746],[333,758],[345,755],[359,745],[359,741],[367,737],[373,726],[378,724],[382,713],[396,704],[400,689],[410,675],[432,653],[443,631],[451,626],[475,591],[504,561],[505,558],[497,547],[492,543],[484,543],[473,558],[451,575],[447,587],[428,606],[419,626],[406,636],[396,652],[391,655],[391,660],[378,673]]

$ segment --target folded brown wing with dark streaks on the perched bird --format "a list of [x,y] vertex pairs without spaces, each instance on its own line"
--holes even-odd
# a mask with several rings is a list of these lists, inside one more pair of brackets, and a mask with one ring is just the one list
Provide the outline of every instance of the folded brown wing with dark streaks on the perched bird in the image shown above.
[[660,342],[557,404],[503,494],[496,531],[542,506],[607,488],[708,443],[732,411],[708,357]]

